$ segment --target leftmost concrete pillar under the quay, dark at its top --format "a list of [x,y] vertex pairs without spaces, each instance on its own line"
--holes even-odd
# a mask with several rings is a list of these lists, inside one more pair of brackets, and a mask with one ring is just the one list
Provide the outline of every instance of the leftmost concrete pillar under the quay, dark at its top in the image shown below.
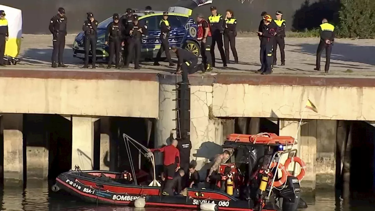
[[4,185],[23,185],[23,114],[3,114]]

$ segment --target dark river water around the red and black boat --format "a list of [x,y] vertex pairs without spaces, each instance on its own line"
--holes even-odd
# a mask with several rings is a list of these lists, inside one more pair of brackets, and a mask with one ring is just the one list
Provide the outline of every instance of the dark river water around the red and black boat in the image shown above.
[[[45,187],[34,184],[32,188],[5,188],[0,191],[1,210],[7,211],[133,211],[130,207],[96,205],[81,202],[76,198],[54,193]],[[346,205],[343,200],[335,202],[333,193],[317,193],[315,201],[305,199],[309,207],[305,211],[374,211],[374,200],[358,197],[351,205]],[[175,209],[146,208],[145,211],[172,211]],[[181,208],[181,210],[186,210]]]

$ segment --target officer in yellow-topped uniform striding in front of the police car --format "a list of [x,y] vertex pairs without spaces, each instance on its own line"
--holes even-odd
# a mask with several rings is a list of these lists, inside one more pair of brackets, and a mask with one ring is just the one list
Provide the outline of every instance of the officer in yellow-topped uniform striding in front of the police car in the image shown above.
[[174,66],[174,63],[171,59],[171,54],[169,53],[169,44],[168,44],[168,35],[169,31],[171,31],[171,24],[168,21],[168,12],[163,12],[163,19],[160,20],[159,23],[161,33],[160,33],[160,40],[161,46],[159,51],[157,51],[154,66],[159,66],[160,57],[162,56],[163,51],[165,51],[166,59],[169,62],[169,66]]

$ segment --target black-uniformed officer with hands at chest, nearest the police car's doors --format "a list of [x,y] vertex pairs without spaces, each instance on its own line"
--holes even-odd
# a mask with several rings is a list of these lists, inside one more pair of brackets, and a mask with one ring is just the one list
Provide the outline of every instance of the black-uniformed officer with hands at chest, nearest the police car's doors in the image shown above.
[[[142,35],[147,34],[147,25],[143,25],[138,22],[138,15],[133,15],[133,24],[129,24],[125,30],[125,34],[130,36],[129,46],[127,52],[135,51],[134,55],[134,68],[140,69],[139,59],[141,57],[141,48],[142,48]],[[127,54],[125,68],[129,67],[131,54]]]

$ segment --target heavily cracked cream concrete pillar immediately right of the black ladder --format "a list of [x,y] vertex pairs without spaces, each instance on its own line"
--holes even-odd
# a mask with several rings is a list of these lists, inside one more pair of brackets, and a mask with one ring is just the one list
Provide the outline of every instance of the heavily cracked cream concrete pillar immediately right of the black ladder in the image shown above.
[[197,161],[201,178],[205,178],[210,159],[222,152],[223,127],[212,115],[212,86],[190,87],[190,160]]

